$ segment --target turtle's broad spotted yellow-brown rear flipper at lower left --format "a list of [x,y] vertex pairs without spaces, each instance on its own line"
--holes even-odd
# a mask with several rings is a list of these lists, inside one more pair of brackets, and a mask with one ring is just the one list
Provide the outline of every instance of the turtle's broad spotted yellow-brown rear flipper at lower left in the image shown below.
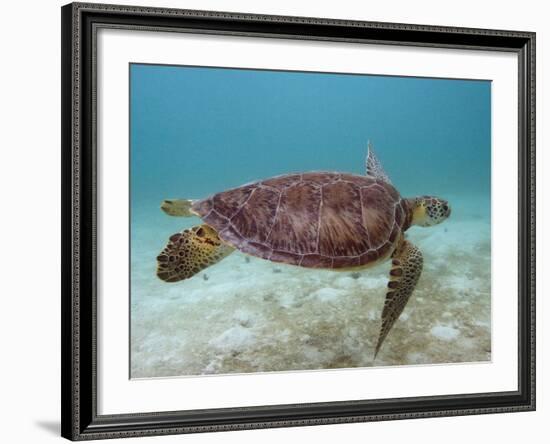
[[183,230],[170,236],[168,244],[157,256],[157,276],[165,282],[188,279],[221,261],[233,250],[206,224]]

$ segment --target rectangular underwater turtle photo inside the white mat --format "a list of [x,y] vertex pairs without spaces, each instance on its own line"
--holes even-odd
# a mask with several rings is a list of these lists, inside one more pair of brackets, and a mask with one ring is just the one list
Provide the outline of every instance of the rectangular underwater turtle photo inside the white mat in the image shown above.
[[129,75],[131,378],[491,360],[490,81]]

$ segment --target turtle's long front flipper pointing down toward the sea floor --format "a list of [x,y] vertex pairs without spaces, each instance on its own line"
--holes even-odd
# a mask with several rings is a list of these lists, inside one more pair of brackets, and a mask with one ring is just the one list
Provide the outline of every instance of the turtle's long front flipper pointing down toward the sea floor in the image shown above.
[[392,257],[388,292],[382,310],[382,326],[374,352],[375,359],[384,339],[401,315],[416,287],[420,273],[422,273],[422,264],[422,252],[418,247],[409,241],[401,241]]

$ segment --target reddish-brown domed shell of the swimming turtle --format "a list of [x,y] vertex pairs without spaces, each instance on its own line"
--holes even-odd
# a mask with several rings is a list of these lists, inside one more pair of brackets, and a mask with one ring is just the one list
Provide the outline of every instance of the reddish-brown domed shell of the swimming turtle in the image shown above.
[[309,268],[386,258],[407,227],[390,184],[332,172],[289,174],[199,200],[192,210],[244,253]]

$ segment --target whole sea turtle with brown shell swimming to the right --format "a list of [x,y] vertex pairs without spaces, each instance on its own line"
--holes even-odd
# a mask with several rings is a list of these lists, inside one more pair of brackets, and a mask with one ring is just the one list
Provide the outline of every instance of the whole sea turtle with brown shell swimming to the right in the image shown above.
[[391,259],[376,357],[422,271],[422,253],[405,231],[438,224],[451,209],[437,197],[401,198],[370,144],[366,170],[366,176],[287,174],[202,200],[165,200],[165,213],[198,216],[204,223],[170,237],[157,257],[157,276],[166,282],[190,278],[235,249],[328,270],[357,270]]

